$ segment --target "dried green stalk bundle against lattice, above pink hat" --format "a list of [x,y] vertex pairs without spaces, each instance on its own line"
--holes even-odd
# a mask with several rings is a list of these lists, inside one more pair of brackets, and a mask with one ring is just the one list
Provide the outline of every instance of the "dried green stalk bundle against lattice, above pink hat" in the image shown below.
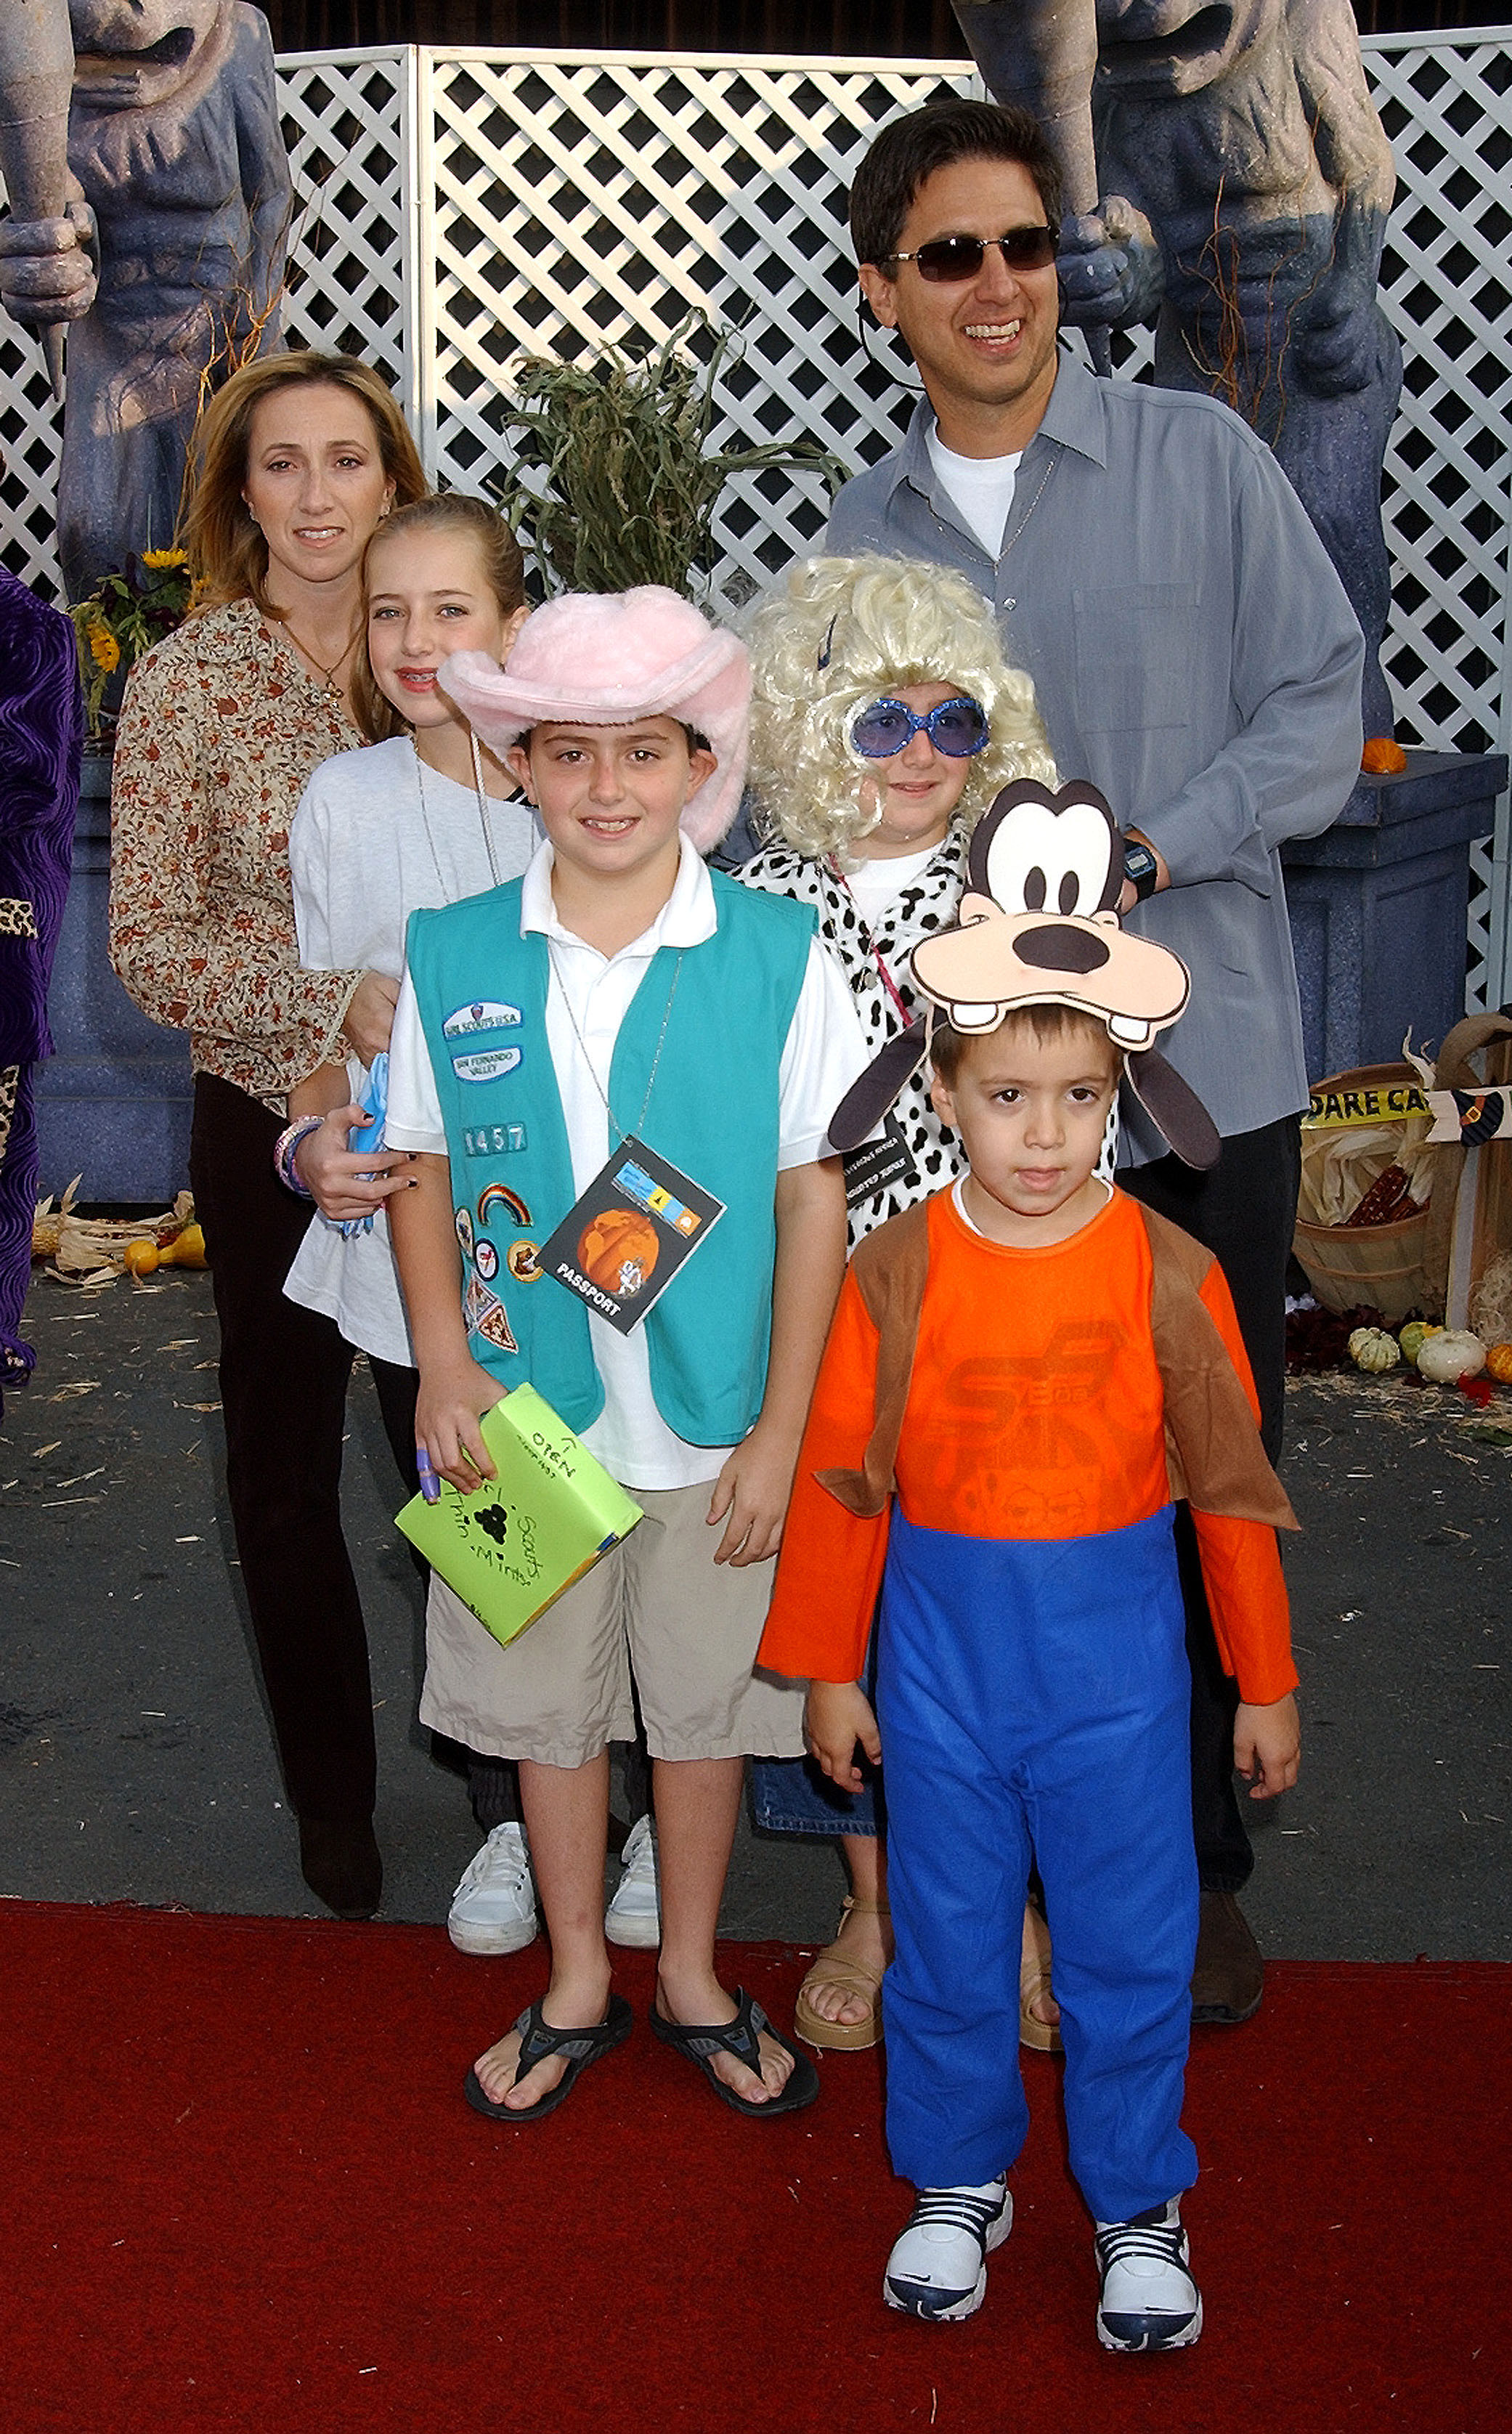
[[696,596],[713,562],[713,509],[738,472],[847,467],[818,441],[711,448],[713,389],[733,329],[689,314],[653,353],[604,348],[589,363],[531,355],[506,436],[516,458],[499,504],[548,591],[667,584]]

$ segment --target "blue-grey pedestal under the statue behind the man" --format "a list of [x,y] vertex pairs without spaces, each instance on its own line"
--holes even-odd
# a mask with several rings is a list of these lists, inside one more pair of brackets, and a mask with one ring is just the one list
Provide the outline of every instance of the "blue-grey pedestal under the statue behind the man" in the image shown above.
[[1466,1010],[1471,842],[1490,837],[1500,752],[1410,752],[1361,776],[1322,837],[1286,845],[1307,1076],[1395,1064]]

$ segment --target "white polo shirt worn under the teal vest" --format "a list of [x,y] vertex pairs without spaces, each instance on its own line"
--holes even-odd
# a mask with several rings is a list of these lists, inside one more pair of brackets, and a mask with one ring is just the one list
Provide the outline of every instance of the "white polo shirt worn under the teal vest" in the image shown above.
[[[645,978],[645,966],[660,947],[701,947],[704,940],[713,937],[718,922],[709,871],[687,837],[682,837],[677,881],[655,922],[609,957],[562,927],[550,893],[550,871],[553,849],[541,845],[521,881],[519,927],[521,937],[538,930],[550,947],[545,1044],[567,1125],[572,1188],[584,1193],[609,1159],[604,1093],[609,1090],[618,1027]],[[864,1064],[867,1047],[850,988],[821,942],[813,940],[782,1049],[777,1083],[779,1171],[811,1166],[828,1156],[830,1117]],[[738,1088],[738,1066],[723,1073],[711,1069],[711,1086]],[[616,1127],[633,1132],[638,1115],[638,1107],[616,1107]],[[648,1146],[655,1149],[655,1122],[648,1125]],[[390,1042],[385,1142],[390,1149],[446,1156],[446,1122],[409,974],[399,988]],[[691,1180],[696,1183],[699,1176]],[[519,1290],[536,1292],[536,1285]],[[541,1292],[553,1290],[562,1288],[541,1278]],[[694,1487],[716,1480],[728,1448],[689,1446],[667,1426],[650,1392],[645,1329],[635,1327],[621,1336],[594,1309],[589,1309],[587,1322],[594,1363],[604,1380],[604,1409],[582,1431],[584,1446],[623,1487]]]

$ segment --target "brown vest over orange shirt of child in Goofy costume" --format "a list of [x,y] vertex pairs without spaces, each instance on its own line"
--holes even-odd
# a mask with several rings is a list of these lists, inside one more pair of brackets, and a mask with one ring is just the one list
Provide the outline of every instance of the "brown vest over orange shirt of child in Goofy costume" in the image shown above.
[[[1269,1521],[1300,1529],[1286,1490],[1271,1470],[1249,1397],[1227,1346],[1200,1297],[1213,1251],[1166,1217],[1135,1202],[1149,1234],[1154,1288],[1149,1331],[1166,1395],[1166,1477],[1171,1499],[1234,1521]],[[847,1512],[869,1519],[896,1487],[903,1404],[913,1380],[913,1348],[930,1273],[928,1202],[918,1202],[857,1246],[852,1258],[867,1314],[881,1344],[877,1351],[877,1407],[859,1470],[821,1470]]]

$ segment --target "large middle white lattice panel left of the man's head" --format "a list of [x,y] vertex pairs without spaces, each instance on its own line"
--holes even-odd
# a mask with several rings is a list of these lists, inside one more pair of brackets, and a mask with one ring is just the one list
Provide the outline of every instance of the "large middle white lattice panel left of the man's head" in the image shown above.
[[[511,358],[657,343],[694,307],[745,333],[718,443],[806,433],[852,462],[877,455],[896,436],[898,392],[862,355],[845,187],[877,124],[942,80],[974,85],[959,63],[426,61],[438,477],[477,484],[504,462]],[[716,591],[767,582],[823,516],[816,477],[735,482],[716,523]]]

